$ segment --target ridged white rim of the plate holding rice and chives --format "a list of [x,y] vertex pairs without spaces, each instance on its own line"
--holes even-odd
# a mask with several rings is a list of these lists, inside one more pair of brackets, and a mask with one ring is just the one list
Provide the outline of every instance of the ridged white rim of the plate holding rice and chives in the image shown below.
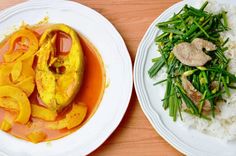
[[144,85],[144,61],[146,60],[147,55],[145,55],[145,51],[149,48],[151,43],[153,42],[153,38],[156,36],[160,30],[154,29],[156,23],[166,20],[169,17],[169,12],[176,10],[182,7],[185,4],[193,3],[194,0],[183,0],[181,2],[177,2],[173,4],[171,7],[167,8],[163,11],[149,26],[146,33],[144,34],[137,50],[137,54],[135,57],[134,63],[134,87],[137,93],[138,100],[140,102],[140,106],[148,118],[151,125],[154,127],[156,132],[164,138],[170,145],[176,148],[183,154],[192,155],[194,154],[203,154],[197,148],[194,148],[188,144],[183,143],[178,137],[176,137],[171,131],[169,131],[161,121],[159,114],[157,114],[151,104],[150,99],[146,92],[146,87]]

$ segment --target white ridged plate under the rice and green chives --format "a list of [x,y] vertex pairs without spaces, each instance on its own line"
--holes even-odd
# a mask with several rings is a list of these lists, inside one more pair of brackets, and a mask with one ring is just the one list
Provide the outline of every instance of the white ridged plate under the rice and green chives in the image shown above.
[[[220,0],[218,0],[220,2]],[[188,129],[183,124],[173,122],[162,107],[161,99],[165,88],[149,78],[148,69],[152,66],[151,59],[158,55],[154,39],[161,32],[155,26],[168,20],[173,13],[177,13],[185,4],[198,6],[195,0],[181,1],[163,12],[149,27],[144,35],[136,55],[134,65],[134,84],[141,107],[155,130],[172,146],[186,155],[236,155],[236,142],[225,142],[220,139]],[[234,0],[220,3],[235,4]],[[156,147],[158,148],[158,147]]]

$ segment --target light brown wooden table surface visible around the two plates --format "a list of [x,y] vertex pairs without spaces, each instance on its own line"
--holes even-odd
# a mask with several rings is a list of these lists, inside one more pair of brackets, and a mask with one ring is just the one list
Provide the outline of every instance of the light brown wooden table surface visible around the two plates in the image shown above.
[[[5,9],[24,0],[1,0]],[[120,32],[134,62],[138,44],[152,21],[179,0],[76,0],[105,16]],[[91,155],[182,155],[153,129],[135,91],[115,132]]]

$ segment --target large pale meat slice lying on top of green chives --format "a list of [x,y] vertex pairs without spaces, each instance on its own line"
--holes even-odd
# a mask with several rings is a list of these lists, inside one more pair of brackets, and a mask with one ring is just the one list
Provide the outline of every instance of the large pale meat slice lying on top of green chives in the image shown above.
[[183,64],[188,66],[203,66],[211,57],[203,52],[203,48],[206,50],[215,50],[215,45],[209,41],[203,39],[194,39],[192,43],[182,42],[177,44],[173,53],[175,57]]

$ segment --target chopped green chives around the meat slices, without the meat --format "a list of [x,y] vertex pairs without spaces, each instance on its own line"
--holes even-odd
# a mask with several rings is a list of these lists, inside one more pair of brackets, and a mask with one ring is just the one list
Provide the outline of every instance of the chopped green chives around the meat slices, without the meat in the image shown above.
[[[163,33],[155,38],[158,51],[161,56],[152,59],[153,66],[148,74],[151,78],[157,75],[162,67],[166,67],[167,79],[158,81],[154,85],[166,82],[166,92],[163,98],[163,108],[169,108],[169,115],[176,121],[177,115],[182,119],[182,101],[186,104],[186,112],[210,120],[203,115],[204,101],[209,100],[211,104],[211,115],[215,116],[216,101],[222,99],[222,94],[230,96],[229,88],[236,89],[235,75],[227,71],[229,59],[224,52],[229,39],[222,41],[220,33],[228,30],[227,12],[212,14],[205,11],[208,2],[205,2],[200,9],[185,5],[177,14],[174,14],[168,21],[158,23],[156,26]],[[204,67],[189,67],[182,64],[172,53],[175,45],[181,42],[191,42],[195,38],[208,40],[216,45],[217,49],[206,52],[212,60]],[[186,76],[194,88],[202,94],[199,104],[195,104],[186,94],[182,87],[180,77]],[[218,86],[211,88],[216,81]]]

